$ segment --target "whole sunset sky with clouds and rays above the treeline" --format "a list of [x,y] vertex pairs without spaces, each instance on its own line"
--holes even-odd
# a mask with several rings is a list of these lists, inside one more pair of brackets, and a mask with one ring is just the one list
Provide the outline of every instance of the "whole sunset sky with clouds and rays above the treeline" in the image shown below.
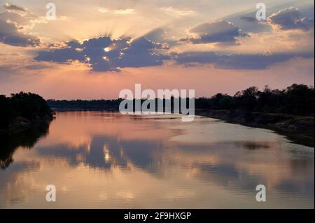
[[0,94],[116,99],[137,83],[197,97],[314,85],[314,1],[0,0]]

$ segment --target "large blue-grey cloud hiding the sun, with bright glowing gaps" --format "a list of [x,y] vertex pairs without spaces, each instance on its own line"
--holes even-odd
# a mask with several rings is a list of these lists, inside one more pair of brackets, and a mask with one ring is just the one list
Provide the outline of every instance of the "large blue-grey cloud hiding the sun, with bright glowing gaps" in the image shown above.
[[155,52],[161,49],[161,44],[148,41],[144,37],[135,40],[99,37],[83,43],[71,41],[62,49],[40,51],[34,59],[57,63],[78,61],[90,66],[92,71],[118,71],[124,67],[162,65],[163,60],[169,57]]

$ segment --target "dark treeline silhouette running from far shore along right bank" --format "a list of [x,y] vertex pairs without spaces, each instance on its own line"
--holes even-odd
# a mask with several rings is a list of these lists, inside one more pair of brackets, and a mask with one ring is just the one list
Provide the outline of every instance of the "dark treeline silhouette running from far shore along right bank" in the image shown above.
[[[57,110],[118,110],[122,100],[48,100],[48,104]],[[156,107],[158,107],[158,100],[155,99]],[[211,98],[195,99],[195,108],[314,115],[314,87],[293,84],[280,90],[265,86],[262,92],[258,87],[248,87],[234,96],[218,93]]]

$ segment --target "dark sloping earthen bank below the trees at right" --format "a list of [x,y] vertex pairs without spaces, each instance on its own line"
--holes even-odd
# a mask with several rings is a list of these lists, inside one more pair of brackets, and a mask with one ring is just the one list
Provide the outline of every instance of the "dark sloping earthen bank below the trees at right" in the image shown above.
[[271,129],[286,136],[293,143],[314,148],[314,117],[311,116],[208,109],[196,109],[195,114],[248,127]]

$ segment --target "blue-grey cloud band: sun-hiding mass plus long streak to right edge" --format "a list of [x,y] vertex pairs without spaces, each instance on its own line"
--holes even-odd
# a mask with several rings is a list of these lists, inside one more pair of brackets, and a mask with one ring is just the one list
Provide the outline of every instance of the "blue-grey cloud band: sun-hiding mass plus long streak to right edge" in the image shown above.
[[146,38],[113,40],[109,37],[91,38],[79,43],[71,41],[66,48],[41,51],[34,59],[45,62],[69,63],[74,60],[88,64],[92,71],[118,71],[124,67],[158,66],[163,60],[174,59],[178,64],[212,64],[218,69],[268,69],[272,64],[295,57],[311,58],[314,52],[219,55],[217,52],[183,52],[161,55],[163,46]]

